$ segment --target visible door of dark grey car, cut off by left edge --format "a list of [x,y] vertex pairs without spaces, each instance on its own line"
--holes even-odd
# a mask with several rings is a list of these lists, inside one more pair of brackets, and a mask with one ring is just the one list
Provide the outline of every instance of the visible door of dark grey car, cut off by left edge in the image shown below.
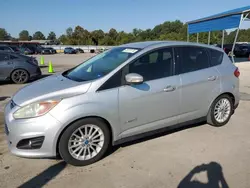
[[0,79],[5,80],[10,76],[13,69],[12,62],[9,59],[9,55],[5,53],[0,53]]

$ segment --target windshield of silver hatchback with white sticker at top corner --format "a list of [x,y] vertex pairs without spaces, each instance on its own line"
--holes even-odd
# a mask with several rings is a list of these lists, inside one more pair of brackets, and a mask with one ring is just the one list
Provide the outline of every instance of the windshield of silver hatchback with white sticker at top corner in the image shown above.
[[133,56],[139,49],[117,47],[85,61],[76,68],[66,71],[63,76],[75,81],[101,78]]

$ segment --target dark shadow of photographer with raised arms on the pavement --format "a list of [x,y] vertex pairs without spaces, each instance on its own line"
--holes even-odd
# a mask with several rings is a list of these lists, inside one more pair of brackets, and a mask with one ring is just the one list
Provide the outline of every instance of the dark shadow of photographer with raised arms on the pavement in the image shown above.
[[[199,173],[206,172],[207,182],[197,179]],[[179,183],[178,188],[229,188],[219,163],[202,164],[192,169]]]

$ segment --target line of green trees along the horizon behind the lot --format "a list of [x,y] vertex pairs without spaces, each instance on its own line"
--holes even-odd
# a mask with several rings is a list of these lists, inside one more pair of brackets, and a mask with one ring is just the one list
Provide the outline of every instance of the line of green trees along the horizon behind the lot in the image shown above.
[[[225,43],[233,43],[236,31],[225,32]],[[76,26],[74,29],[69,27],[65,33],[57,38],[55,32],[51,31],[47,37],[37,31],[30,35],[28,30],[23,30],[19,33],[19,38],[13,38],[4,29],[0,28],[0,40],[52,40],[60,41],[64,45],[120,45],[129,42],[139,42],[148,40],[187,40],[187,24],[176,20],[166,21],[156,25],[152,29],[135,28],[132,32],[117,31],[111,28],[108,32],[103,30],[88,31],[81,26]],[[222,31],[211,32],[211,44],[220,44],[222,39]],[[189,36],[191,42],[196,42],[196,34]],[[250,29],[241,29],[238,40],[241,42],[250,42]],[[199,33],[199,42],[208,42],[208,32]]]

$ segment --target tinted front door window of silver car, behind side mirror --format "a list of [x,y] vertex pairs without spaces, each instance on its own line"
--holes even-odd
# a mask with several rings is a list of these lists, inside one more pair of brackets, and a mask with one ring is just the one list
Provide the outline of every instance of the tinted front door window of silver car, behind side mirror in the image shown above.
[[143,55],[129,65],[129,73],[143,76],[144,81],[173,75],[172,48],[160,49]]

